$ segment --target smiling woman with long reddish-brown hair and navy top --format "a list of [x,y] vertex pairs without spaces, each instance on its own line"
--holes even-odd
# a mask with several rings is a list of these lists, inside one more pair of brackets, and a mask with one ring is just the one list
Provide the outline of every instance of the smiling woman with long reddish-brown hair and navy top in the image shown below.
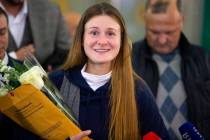
[[95,4],[81,17],[63,70],[50,75],[94,140],[140,140],[150,131],[168,139],[150,90],[133,73],[130,53],[118,10]]

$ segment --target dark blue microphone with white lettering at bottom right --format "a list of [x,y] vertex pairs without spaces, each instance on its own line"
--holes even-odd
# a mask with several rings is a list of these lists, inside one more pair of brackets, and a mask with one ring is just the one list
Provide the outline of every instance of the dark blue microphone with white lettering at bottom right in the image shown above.
[[204,140],[198,129],[192,123],[186,122],[179,127],[183,140]]

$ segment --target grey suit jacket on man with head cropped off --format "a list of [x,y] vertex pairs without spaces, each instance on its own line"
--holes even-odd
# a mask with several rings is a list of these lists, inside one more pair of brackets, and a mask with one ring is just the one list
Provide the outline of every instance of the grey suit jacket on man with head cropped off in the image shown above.
[[[61,11],[50,0],[27,0],[36,58],[41,64],[63,63],[70,48],[70,35]],[[8,51],[17,48],[8,47]]]

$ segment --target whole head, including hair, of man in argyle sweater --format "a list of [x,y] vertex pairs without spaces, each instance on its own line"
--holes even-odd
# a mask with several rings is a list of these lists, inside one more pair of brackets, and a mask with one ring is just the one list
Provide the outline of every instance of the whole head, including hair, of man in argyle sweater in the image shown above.
[[145,26],[148,44],[155,52],[173,52],[178,47],[183,26],[177,0],[149,0]]

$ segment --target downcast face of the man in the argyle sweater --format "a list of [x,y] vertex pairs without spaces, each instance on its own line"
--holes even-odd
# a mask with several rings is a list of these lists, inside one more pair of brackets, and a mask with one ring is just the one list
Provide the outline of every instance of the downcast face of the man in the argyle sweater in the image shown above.
[[171,9],[158,14],[149,13],[145,22],[147,42],[154,52],[167,54],[178,47],[183,17],[177,10]]

